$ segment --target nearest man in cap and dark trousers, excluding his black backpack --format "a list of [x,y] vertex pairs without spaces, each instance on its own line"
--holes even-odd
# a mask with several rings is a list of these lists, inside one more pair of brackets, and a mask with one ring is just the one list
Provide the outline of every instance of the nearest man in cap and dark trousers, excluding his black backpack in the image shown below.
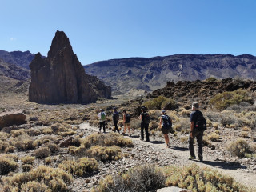
[[196,159],[194,155],[194,138],[197,138],[198,142],[198,158],[202,162],[202,135],[203,131],[198,126],[198,119],[202,116],[202,112],[199,110],[198,102],[192,103],[192,112],[190,114],[190,136],[189,136],[189,149],[190,149],[190,160]]

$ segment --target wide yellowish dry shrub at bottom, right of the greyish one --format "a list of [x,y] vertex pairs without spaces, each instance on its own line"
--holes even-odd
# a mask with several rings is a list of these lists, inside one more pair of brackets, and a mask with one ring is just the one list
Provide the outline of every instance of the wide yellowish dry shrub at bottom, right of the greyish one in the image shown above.
[[178,186],[192,191],[237,191],[247,192],[248,188],[234,181],[230,176],[218,173],[208,167],[168,166],[162,169],[165,172],[166,186]]

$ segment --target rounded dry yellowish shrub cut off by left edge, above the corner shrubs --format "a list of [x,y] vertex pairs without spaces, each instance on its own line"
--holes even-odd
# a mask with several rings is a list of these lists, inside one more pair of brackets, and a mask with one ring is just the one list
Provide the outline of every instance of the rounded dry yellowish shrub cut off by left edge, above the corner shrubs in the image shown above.
[[18,168],[18,163],[12,158],[0,157],[0,175],[8,174]]

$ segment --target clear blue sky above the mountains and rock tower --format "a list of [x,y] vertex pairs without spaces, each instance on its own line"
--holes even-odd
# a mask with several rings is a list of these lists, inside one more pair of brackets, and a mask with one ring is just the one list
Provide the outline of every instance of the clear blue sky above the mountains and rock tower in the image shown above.
[[0,50],[47,55],[56,30],[82,65],[171,54],[256,55],[255,0],[0,0]]

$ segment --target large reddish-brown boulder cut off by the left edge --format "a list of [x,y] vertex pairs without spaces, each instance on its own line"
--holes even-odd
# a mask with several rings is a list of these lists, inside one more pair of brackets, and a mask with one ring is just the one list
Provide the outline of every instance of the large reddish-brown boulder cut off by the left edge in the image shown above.
[[22,125],[26,120],[24,110],[11,110],[0,114],[0,129],[6,126]]

